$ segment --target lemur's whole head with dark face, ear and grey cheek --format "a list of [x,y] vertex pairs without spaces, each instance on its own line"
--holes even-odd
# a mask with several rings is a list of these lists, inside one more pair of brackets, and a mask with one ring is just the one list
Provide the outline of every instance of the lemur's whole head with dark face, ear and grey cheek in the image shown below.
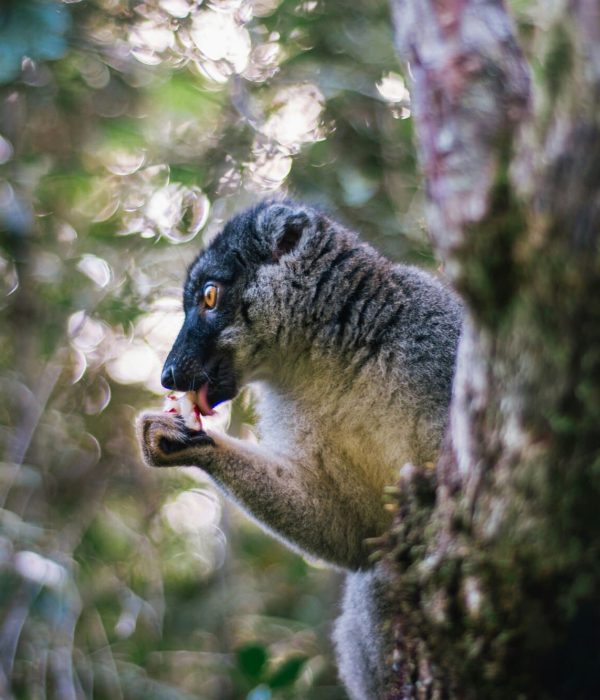
[[260,376],[293,313],[311,251],[323,242],[317,212],[266,201],[234,217],[188,270],[183,327],[162,384],[197,391],[202,413]]

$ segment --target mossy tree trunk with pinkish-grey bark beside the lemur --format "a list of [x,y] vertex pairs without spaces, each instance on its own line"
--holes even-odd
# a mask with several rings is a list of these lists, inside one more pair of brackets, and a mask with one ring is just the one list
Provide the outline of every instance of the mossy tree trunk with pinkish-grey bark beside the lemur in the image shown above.
[[389,698],[600,697],[600,4],[538,5],[533,100],[500,0],[392,0],[467,320],[382,547]]

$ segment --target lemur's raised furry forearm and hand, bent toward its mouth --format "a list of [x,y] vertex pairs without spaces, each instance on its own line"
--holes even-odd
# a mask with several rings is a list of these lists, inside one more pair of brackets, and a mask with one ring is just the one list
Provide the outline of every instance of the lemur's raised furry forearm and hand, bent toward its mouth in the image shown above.
[[379,534],[344,503],[316,465],[282,459],[222,433],[194,433],[177,417],[145,413],[138,429],[150,466],[196,466],[260,523],[292,545],[338,566],[366,565],[364,538]]

